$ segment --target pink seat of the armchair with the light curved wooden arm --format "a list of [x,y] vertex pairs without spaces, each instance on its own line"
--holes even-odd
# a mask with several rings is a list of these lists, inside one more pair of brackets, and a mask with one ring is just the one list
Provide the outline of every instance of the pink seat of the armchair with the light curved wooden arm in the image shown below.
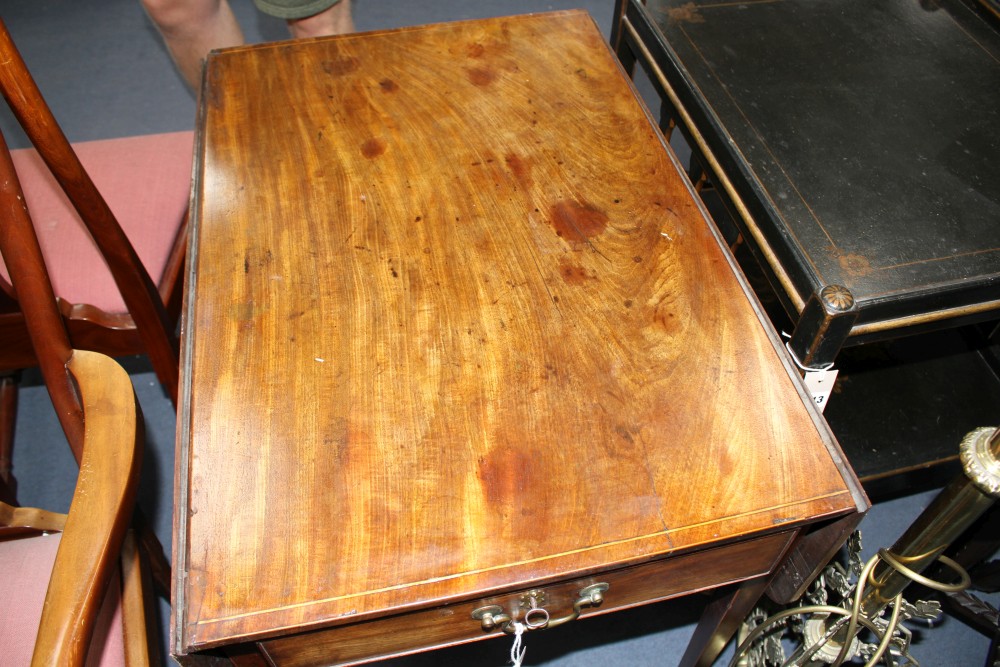
[[[4,573],[0,577],[0,664],[7,667],[31,664],[60,537],[59,533],[53,533],[0,542],[0,571]],[[109,586],[87,657],[88,666],[125,664],[119,600],[118,586]]]

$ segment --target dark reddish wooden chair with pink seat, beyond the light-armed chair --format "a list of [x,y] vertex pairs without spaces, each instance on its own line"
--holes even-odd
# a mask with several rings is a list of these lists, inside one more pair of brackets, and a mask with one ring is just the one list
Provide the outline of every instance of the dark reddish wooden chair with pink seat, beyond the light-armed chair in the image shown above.
[[[37,234],[42,253],[32,261],[44,270],[44,257],[72,346],[110,356],[148,354],[176,402],[193,133],[71,146],[2,21],[0,93],[34,146],[10,151],[35,221],[11,231],[11,252]],[[0,214],[5,228],[7,217]],[[30,297],[12,286],[8,269],[9,261],[0,263],[0,499],[13,502],[14,377],[40,359],[29,341],[35,325],[23,308]],[[58,402],[57,408],[79,460],[75,409]]]

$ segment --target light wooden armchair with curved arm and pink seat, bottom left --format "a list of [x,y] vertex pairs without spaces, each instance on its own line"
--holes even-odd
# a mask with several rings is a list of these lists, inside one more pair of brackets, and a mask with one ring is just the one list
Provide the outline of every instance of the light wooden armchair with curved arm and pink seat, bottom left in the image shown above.
[[0,503],[0,655],[17,666],[156,664],[150,582],[128,529],[142,414],[110,357],[75,351],[66,370],[82,403],[80,476],[68,515]]

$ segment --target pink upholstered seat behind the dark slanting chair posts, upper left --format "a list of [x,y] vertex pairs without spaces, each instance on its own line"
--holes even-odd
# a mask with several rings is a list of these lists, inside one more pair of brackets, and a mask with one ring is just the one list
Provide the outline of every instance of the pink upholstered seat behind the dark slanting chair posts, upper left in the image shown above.
[[[193,143],[194,133],[186,131],[73,144],[154,283],[187,210]],[[56,295],[107,313],[126,312],[97,248],[38,153],[21,149],[11,155]],[[2,260],[0,276],[9,291]]]

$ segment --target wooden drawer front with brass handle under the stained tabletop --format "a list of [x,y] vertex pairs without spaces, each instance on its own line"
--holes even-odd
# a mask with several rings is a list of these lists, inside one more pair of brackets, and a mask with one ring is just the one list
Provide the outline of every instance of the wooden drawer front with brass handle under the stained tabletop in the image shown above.
[[[316,667],[363,664],[504,636],[499,628],[484,630],[473,618],[473,611],[497,606],[503,613],[522,618],[533,597],[550,614],[550,623],[554,624],[572,613],[582,589],[597,583],[608,586],[603,601],[596,606],[581,605],[580,618],[627,609],[765,575],[777,564],[794,536],[795,531],[789,531],[537,589],[266,640],[258,648],[275,665]],[[538,614],[533,614],[532,620],[536,617]]]

